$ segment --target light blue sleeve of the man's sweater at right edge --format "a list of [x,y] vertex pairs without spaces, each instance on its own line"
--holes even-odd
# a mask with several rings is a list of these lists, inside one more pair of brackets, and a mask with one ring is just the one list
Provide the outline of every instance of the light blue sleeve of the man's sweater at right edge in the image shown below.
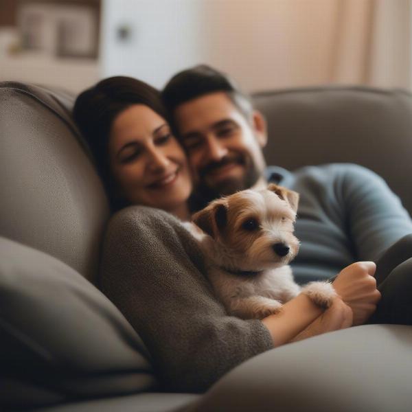
[[412,233],[411,218],[380,176],[358,165],[343,170],[342,203],[357,258],[376,260],[391,244]]

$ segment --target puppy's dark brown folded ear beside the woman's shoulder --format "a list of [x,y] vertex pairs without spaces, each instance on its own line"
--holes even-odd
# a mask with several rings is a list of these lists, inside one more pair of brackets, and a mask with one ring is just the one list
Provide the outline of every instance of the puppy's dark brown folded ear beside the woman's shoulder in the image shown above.
[[227,223],[227,201],[218,199],[192,216],[192,221],[212,238],[218,238]]

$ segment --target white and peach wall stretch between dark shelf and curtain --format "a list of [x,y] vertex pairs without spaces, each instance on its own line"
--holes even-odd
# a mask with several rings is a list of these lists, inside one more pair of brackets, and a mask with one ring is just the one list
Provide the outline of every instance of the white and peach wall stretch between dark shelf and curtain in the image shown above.
[[[249,91],[328,82],[339,0],[105,0],[104,76],[162,87],[208,62]],[[120,41],[116,30],[131,29]]]

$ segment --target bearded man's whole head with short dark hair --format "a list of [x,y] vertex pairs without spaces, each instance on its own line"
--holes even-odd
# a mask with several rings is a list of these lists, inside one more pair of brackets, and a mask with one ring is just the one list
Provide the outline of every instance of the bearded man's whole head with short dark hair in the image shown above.
[[163,98],[204,201],[265,184],[264,118],[229,78],[206,66],[189,69],[170,80]]

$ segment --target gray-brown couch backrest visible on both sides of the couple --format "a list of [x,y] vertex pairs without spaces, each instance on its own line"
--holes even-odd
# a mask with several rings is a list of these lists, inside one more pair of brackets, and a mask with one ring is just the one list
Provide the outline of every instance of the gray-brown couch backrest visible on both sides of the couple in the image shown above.
[[[0,82],[0,236],[39,249],[88,279],[108,201],[71,119],[73,96]],[[353,162],[380,174],[412,213],[412,96],[367,87],[256,93],[268,164]]]

